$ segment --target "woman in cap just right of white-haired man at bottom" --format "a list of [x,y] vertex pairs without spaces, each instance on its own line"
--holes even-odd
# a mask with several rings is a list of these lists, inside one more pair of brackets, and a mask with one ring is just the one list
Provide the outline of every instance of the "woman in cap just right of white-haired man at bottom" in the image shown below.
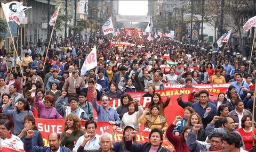
[[[116,128],[117,128],[117,126],[114,126],[114,127],[113,127],[113,133],[112,133],[112,136],[113,136],[113,137],[115,136]],[[126,126],[124,127],[123,137],[122,137],[121,141],[116,141],[116,142],[114,142],[113,145],[111,146],[111,148],[112,148],[114,151],[128,151],[128,150],[126,149],[126,147],[125,147],[126,138],[127,138],[128,136],[130,136],[131,132],[134,131],[134,130],[135,130],[135,128],[134,128],[134,126],[133,126],[132,124],[126,125]],[[135,137],[132,139],[132,143],[133,143],[134,145],[137,145],[137,146],[140,146],[140,145],[141,145],[141,143],[139,143],[139,142],[136,141],[136,138],[135,138]]]

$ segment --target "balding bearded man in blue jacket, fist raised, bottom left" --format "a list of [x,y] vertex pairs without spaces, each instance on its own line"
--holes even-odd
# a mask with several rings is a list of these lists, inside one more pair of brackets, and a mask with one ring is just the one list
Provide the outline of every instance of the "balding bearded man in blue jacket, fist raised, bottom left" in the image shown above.
[[33,130],[28,130],[27,131],[27,137],[25,138],[24,141],[24,149],[25,151],[38,151],[38,152],[44,152],[44,151],[52,151],[52,152],[57,152],[57,151],[65,151],[65,152],[71,152],[70,149],[63,147],[61,145],[61,139],[60,139],[60,134],[58,133],[51,133],[48,136],[48,142],[50,147],[39,147],[39,146],[33,146],[32,145],[32,137],[34,136],[35,131]]

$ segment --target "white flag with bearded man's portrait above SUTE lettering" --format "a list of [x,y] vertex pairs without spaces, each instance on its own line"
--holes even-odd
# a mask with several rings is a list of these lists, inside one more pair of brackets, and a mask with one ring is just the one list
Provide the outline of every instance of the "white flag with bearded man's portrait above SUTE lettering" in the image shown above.
[[25,11],[32,7],[23,6],[21,2],[2,3],[5,19],[7,22],[15,21],[17,24],[21,24],[25,18]]

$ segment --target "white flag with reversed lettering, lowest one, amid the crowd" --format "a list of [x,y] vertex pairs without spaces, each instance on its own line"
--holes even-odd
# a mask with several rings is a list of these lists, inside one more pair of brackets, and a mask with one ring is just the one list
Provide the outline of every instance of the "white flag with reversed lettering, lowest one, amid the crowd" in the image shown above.
[[84,60],[84,64],[81,69],[81,75],[84,75],[86,71],[91,70],[96,66],[97,66],[97,51],[96,51],[96,47],[94,46],[90,54]]

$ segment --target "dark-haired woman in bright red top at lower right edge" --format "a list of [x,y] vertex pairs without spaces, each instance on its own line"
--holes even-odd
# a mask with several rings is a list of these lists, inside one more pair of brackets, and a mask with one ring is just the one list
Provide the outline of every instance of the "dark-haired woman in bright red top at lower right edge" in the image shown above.
[[252,130],[256,132],[256,128],[252,127],[252,117],[244,115],[241,120],[242,128],[238,128],[238,131],[244,141],[245,150],[249,151],[252,148],[252,141],[255,141],[255,134],[252,135]]

